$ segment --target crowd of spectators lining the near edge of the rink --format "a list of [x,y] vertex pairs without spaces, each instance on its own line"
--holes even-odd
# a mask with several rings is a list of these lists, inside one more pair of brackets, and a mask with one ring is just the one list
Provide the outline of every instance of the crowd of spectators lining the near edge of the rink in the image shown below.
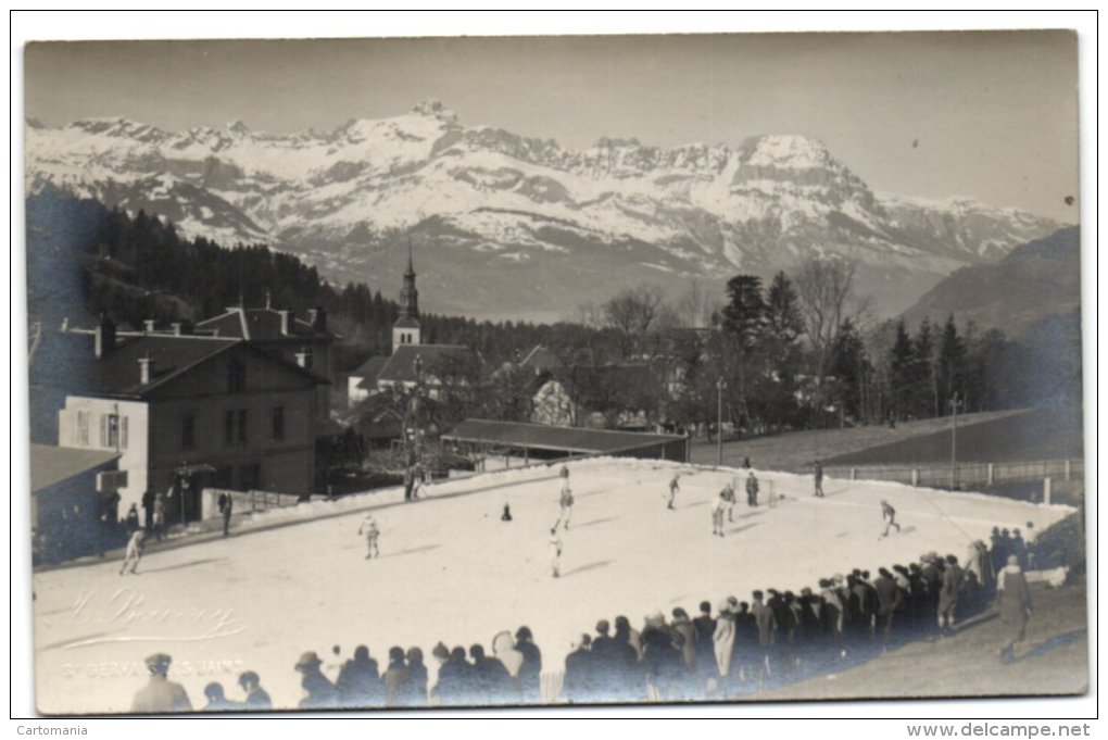
[[[962,624],[1001,604],[1005,584],[1017,593],[1018,575],[1034,558],[1018,530],[994,528],[992,541],[972,543],[963,557],[937,553],[916,562],[880,567],[875,573],[854,568],[820,578],[799,593],[766,588],[748,600],[728,596],[715,608],[701,602],[693,617],[683,607],[668,617],[647,615],[636,628],[626,616],[599,619],[583,633],[561,665],[547,666],[531,629],[502,631],[491,654],[478,644],[469,649],[439,643],[431,649],[433,682],[419,647],[392,647],[383,668],[359,646],[353,656],[329,665],[315,651],[300,656],[300,709],[410,708],[428,706],[514,706],[564,701],[613,703],[638,701],[721,700],[828,671],[839,671],[906,641],[943,639]],[[1026,584],[1019,584],[1015,611],[1026,610]],[[1010,600],[1010,599],[1009,599]],[[1005,613],[1002,606],[1002,618]],[[1006,619],[1006,618],[1005,618]],[[1018,619],[1017,619],[1018,621]],[[1026,619],[1012,635],[1023,638]],[[1010,659],[1010,641],[1001,650]],[[340,650],[332,649],[336,658]],[[136,696],[135,710],[189,711],[177,685],[166,682],[168,656],[154,656],[152,685]],[[156,667],[156,671],[155,671]],[[561,672],[560,684],[547,676]],[[204,693],[209,711],[258,711],[271,707],[258,676],[238,679],[244,698],[230,699],[222,685]],[[161,707],[150,696],[173,706]],[[141,703],[141,706],[140,706]]]

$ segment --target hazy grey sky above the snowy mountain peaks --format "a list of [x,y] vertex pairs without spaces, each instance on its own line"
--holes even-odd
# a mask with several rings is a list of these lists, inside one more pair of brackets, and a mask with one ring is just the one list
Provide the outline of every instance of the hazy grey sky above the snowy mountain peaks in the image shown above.
[[441,100],[465,125],[579,148],[821,138],[879,193],[1077,220],[1066,31],[40,43],[25,114],[330,130]]

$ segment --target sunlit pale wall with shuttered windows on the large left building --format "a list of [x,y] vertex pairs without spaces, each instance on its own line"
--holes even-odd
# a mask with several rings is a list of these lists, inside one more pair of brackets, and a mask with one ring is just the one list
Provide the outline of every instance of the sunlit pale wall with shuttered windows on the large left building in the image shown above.
[[[109,432],[113,415],[117,419],[114,436]],[[127,471],[127,485],[120,489],[120,511],[142,504],[150,460],[150,407],[144,401],[66,397],[58,412],[58,446],[119,452],[119,469]]]

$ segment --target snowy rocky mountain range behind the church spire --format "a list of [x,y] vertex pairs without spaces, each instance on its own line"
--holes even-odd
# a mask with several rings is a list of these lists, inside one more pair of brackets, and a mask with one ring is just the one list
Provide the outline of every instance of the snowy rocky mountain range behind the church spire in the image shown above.
[[955,269],[1060,226],[966,198],[879,196],[799,135],[572,151],[465,126],[438,102],[289,135],[29,121],[25,152],[29,193],[54,186],[188,236],[265,241],[386,292],[411,240],[424,309],[493,318],[564,318],[643,281],[671,296],[694,280],[718,289],[812,254],[856,259],[862,290],[895,314]]

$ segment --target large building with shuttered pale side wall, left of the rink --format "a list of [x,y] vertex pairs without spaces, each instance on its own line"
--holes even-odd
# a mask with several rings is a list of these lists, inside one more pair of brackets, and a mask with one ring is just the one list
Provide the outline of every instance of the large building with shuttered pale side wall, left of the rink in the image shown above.
[[42,426],[32,439],[117,453],[123,511],[146,491],[175,495],[173,524],[201,516],[205,486],[311,492],[317,389],[328,381],[253,342],[117,336],[104,320],[92,332],[43,337],[31,374],[32,421]]

